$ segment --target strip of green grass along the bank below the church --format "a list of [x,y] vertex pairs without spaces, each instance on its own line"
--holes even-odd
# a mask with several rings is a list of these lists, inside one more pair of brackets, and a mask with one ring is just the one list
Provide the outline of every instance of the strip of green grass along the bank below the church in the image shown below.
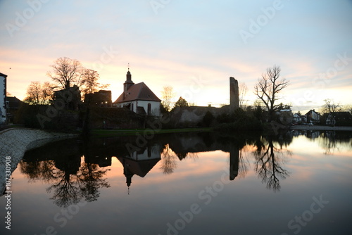
[[163,133],[181,133],[181,132],[210,132],[212,129],[209,127],[196,127],[196,128],[178,128],[178,129],[92,129],[90,134],[95,137],[108,137],[120,135],[136,135],[143,134],[144,132],[150,133],[151,130],[155,134]]

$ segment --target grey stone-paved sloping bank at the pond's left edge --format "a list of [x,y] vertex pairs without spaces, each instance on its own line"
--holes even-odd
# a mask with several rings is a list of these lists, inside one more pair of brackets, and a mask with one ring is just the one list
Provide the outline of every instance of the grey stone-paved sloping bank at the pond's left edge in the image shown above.
[[10,156],[11,174],[25,151],[55,139],[73,138],[77,134],[44,132],[39,129],[5,129],[0,132],[0,195],[5,188],[6,157]]

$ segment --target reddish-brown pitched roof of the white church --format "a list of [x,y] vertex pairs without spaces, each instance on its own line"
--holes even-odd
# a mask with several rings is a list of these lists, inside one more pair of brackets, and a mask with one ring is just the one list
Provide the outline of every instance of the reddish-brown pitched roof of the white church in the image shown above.
[[158,97],[149,89],[149,87],[144,84],[144,82],[140,82],[132,85],[126,92],[123,92],[118,99],[113,103],[123,103],[127,101],[161,101]]

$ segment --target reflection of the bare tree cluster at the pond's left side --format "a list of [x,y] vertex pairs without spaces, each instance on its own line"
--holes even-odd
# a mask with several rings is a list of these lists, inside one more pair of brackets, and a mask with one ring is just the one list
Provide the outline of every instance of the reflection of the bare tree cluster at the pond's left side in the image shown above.
[[100,188],[110,185],[103,176],[110,169],[102,170],[98,164],[84,163],[80,156],[61,160],[21,161],[20,170],[30,182],[37,179],[51,184],[46,191],[53,193],[51,200],[59,207],[68,207],[85,201],[96,201]]

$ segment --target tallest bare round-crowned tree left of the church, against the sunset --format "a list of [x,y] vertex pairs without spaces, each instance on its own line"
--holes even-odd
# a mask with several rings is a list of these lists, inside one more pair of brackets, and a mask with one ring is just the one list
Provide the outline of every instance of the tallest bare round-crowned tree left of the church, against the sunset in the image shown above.
[[80,61],[68,57],[60,57],[54,65],[50,65],[52,71],[46,73],[56,84],[58,88],[67,89],[70,84],[82,85],[80,80],[84,74],[84,68]]

